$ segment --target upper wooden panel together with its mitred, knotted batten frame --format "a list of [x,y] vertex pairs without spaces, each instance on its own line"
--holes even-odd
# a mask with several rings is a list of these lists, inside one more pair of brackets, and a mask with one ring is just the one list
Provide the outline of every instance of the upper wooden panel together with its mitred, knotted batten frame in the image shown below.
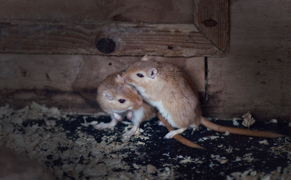
[[[228,1],[219,2],[208,1],[211,17],[199,0],[1,3],[0,53],[222,57]],[[212,16],[217,25],[201,25]]]

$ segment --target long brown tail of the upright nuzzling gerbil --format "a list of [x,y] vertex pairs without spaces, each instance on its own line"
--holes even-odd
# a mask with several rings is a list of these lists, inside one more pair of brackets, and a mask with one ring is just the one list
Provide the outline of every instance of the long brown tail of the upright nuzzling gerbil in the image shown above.
[[268,132],[268,131],[253,131],[249,129],[220,126],[218,124],[208,121],[204,117],[201,118],[201,124],[204,125],[206,128],[210,128],[214,131],[221,132],[221,133],[226,133],[228,131],[231,134],[240,134],[240,135],[246,135],[246,136],[257,136],[257,137],[265,137],[265,138],[280,138],[280,137],[285,136],[282,134],[277,134],[277,133]]

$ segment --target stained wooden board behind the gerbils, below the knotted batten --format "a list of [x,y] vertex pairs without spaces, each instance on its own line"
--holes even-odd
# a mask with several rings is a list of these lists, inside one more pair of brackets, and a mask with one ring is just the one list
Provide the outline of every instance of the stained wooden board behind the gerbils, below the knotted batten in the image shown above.
[[[0,53],[0,106],[9,103],[19,109],[36,101],[66,112],[100,112],[96,92],[101,81],[141,58]],[[199,93],[204,94],[203,57],[149,58],[184,69]]]

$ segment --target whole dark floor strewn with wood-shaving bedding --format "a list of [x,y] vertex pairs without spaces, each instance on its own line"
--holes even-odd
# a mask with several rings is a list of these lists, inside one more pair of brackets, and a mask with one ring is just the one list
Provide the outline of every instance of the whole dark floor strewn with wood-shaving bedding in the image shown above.
[[[123,139],[119,136],[132,127],[129,122],[102,131],[92,128],[106,118],[36,102],[17,111],[6,105],[0,108],[0,145],[33,159],[55,179],[291,179],[289,137],[186,131],[183,136],[209,149],[198,150],[163,139],[166,128],[157,120]],[[231,143],[231,137],[238,140]]]

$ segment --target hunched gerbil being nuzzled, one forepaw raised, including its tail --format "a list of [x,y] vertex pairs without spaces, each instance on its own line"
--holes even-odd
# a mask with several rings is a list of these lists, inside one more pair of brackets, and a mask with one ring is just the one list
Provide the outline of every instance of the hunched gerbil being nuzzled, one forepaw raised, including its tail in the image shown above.
[[[120,114],[127,112],[127,118],[133,122],[133,128],[124,136],[132,136],[135,134],[140,126],[140,123],[147,119],[151,119],[156,115],[156,108],[150,106],[147,102],[142,101],[142,97],[137,94],[137,90],[132,86],[126,84],[123,78],[120,77],[122,72],[116,72],[107,76],[99,85],[97,90],[97,101],[100,107],[111,116],[110,123],[100,123],[94,125],[95,129],[112,128],[122,120]],[[164,123],[166,128],[170,131],[173,130],[171,125],[167,123],[164,117],[158,114],[159,119]],[[177,134],[174,139],[184,145],[200,148],[203,147],[183,138]]]

